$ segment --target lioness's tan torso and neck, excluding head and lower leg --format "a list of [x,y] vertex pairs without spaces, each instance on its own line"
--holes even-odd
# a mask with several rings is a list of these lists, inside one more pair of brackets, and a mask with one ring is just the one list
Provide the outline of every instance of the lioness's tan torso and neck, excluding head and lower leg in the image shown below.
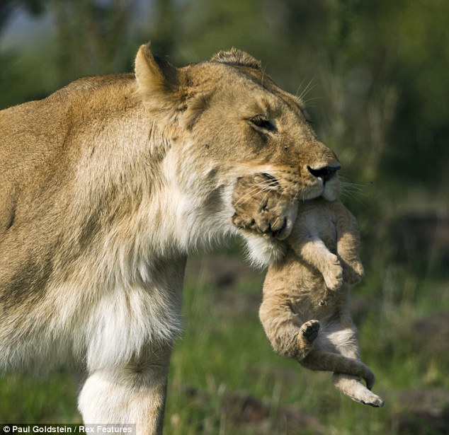
[[[98,367],[127,361],[144,342],[172,340],[186,256],[232,232],[217,171],[203,168],[207,186],[184,173],[189,144],[167,139],[135,98],[132,76],[78,81],[6,112],[2,364],[45,365],[57,348],[61,360],[86,354]],[[26,316],[14,315],[19,303]],[[45,346],[31,352],[33,331]],[[98,340],[86,342],[91,336]]]

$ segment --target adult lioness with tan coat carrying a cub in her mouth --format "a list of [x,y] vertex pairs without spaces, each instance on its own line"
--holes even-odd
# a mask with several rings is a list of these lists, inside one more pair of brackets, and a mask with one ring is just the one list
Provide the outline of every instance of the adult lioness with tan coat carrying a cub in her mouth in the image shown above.
[[340,167],[301,101],[235,49],[178,69],[142,45],[135,74],[4,110],[0,134],[1,369],[78,362],[84,422],[140,435],[162,430],[186,258],[239,233],[237,178],[291,199],[275,238],[248,236],[268,264],[295,199],[326,195]]

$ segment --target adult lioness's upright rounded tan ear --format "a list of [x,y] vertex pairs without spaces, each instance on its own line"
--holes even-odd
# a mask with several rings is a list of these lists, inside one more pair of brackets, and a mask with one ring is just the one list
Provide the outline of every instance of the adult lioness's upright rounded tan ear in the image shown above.
[[176,67],[155,57],[148,43],[137,52],[135,75],[137,91],[149,114],[166,126],[173,126],[183,99]]

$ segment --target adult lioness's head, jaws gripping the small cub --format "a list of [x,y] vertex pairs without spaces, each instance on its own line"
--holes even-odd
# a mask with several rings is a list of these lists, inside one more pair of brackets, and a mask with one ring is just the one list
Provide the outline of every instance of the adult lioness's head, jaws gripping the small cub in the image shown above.
[[203,209],[203,224],[225,222],[232,232],[241,177],[261,174],[282,192],[275,237],[245,233],[251,251],[262,248],[262,262],[270,261],[275,239],[290,233],[297,200],[336,198],[339,160],[310,127],[301,100],[278,88],[249,54],[233,49],[177,69],[142,45],[135,71],[142,103],[166,138],[166,172]]

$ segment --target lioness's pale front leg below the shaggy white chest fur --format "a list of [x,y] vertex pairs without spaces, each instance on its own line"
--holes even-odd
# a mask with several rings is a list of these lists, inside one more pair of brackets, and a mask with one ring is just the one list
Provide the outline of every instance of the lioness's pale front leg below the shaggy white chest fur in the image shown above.
[[84,423],[135,424],[135,433],[161,435],[170,348],[127,366],[92,371],[79,396]]

